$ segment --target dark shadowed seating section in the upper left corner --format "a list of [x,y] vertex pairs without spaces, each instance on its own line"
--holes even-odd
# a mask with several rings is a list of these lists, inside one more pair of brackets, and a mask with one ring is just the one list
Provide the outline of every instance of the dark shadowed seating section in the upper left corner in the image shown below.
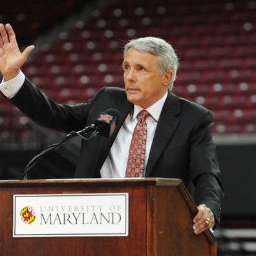
[[39,36],[47,32],[53,25],[61,24],[72,12],[77,12],[85,5],[83,2],[82,0],[27,0],[26,3],[21,3],[18,0],[9,0],[1,5],[0,22],[12,24],[19,44],[31,43],[35,35]]

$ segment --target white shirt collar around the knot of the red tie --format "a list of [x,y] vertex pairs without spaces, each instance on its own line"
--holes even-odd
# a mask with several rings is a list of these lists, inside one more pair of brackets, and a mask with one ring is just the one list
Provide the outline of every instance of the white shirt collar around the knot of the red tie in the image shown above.
[[[158,122],[162,108],[164,106],[165,100],[167,98],[168,91],[165,92],[164,96],[160,98],[160,100],[156,101],[153,105],[148,107],[146,110],[151,114],[151,116]],[[143,108],[140,107],[139,105],[134,105],[134,111],[133,114],[131,115],[131,120],[135,120],[136,117],[138,116],[138,113],[142,111]]]

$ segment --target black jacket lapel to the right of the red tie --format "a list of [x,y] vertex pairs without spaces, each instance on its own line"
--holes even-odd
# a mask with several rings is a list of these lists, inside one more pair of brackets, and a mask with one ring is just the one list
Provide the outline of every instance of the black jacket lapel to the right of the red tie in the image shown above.
[[147,161],[147,167],[145,176],[148,177],[153,170],[159,156],[168,144],[171,136],[175,132],[180,120],[176,117],[180,113],[180,103],[178,98],[172,92],[168,91],[167,99],[165,100],[158,124],[156,126],[156,132],[151,145],[149,153],[149,160]]

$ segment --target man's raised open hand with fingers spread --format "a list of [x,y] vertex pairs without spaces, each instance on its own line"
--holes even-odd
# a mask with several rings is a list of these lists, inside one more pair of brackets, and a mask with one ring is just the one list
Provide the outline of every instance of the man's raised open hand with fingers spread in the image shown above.
[[0,24],[0,70],[6,81],[17,76],[34,48],[30,45],[20,52],[12,26]]

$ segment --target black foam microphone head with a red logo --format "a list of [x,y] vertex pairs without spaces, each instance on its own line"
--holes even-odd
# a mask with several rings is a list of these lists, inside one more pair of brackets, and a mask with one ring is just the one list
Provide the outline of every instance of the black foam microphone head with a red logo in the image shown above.
[[120,121],[121,114],[116,109],[107,109],[101,112],[95,120],[94,125],[96,130],[105,137],[111,136],[116,129],[116,125]]

